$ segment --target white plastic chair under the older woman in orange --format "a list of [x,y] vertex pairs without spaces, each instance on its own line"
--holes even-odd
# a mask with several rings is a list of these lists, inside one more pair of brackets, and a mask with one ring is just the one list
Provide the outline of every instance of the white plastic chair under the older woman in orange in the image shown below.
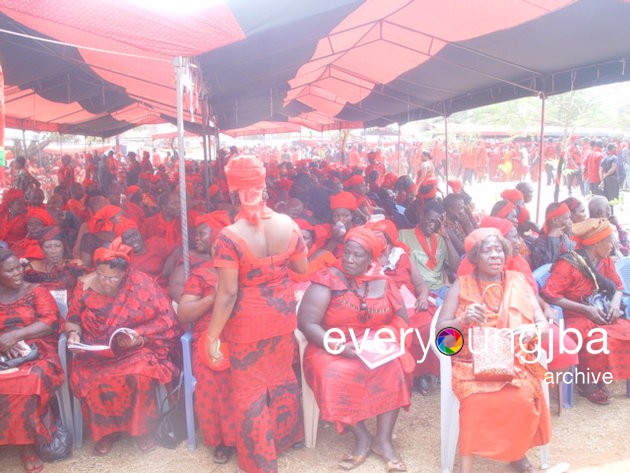
[[[438,308],[431,320],[430,341],[431,349],[440,360],[440,465],[442,473],[451,473],[457,453],[459,438],[459,400],[453,393],[451,357],[443,355],[435,346],[435,327],[440,309]],[[543,360],[545,357],[543,357]],[[542,382],[545,401],[549,405],[549,387]],[[549,466],[549,445],[540,447],[540,468]]]

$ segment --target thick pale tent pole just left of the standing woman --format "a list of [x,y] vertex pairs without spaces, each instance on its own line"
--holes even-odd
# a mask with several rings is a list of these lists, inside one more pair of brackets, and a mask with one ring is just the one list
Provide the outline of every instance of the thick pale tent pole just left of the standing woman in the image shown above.
[[184,258],[184,277],[188,279],[190,274],[190,259],[188,248],[188,211],[186,205],[186,162],[184,150],[184,81],[183,77],[187,73],[188,60],[182,56],[177,56],[173,65],[175,66],[175,77],[177,79],[177,155],[179,158],[179,200],[182,221],[182,249]]

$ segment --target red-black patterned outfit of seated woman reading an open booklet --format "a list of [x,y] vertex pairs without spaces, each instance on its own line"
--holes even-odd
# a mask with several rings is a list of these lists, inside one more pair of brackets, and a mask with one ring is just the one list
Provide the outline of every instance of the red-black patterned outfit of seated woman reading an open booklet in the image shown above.
[[150,433],[158,418],[155,382],[168,383],[179,371],[181,329],[169,299],[149,276],[130,271],[116,297],[79,283],[68,314],[81,326],[84,343],[107,344],[120,327],[145,338],[143,347],[113,359],[89,354],[74,358],[70,386],[83,404],[92,438],[98,441],[115,432]]

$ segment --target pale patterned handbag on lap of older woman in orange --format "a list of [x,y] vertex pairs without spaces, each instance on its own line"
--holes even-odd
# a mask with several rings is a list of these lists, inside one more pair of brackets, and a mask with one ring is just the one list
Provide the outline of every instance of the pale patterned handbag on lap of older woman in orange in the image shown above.
[[510,330],[472,327],[470,352],[478,381],[510,381],[514,372],[514,344]]

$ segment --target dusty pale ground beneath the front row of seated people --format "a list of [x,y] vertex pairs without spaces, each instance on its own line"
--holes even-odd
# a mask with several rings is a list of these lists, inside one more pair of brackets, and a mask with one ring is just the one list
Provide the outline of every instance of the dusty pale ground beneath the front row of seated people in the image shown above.
[[[553,415],[553,438],[550,445],[551,464],[566,461],[580,473],[626,473],[630,471],[627,418],[630,399],[625,397],[625,382],[612,385],[613,402],[596,406],[576,396],[573,409],[565,409],[560,417]],[[410,473],[439,472],[440,455],[440,396],[439,389],[423,397],[414,393],[409,412],[403,412],[396,429],[396,446],[407,463]],[[555,400],[552,408],[555,412]],[[290,451],[280,460],[281,473],[324,473],[341,471],[337,461],[352,448],[352,437],[338,436],[334,428],[320,422],[317,447]],[[127,438],[117,443],[107,457],[95,457],[87,442],[70,460],[47,464],[46,473],[233,473],[236,463],[215,465],[211,451],[198,447],[189,451],[182,443],[176,450],[158,448],[147,455],[139,453]],[[529,454],[538,464],[538,453]],[[476,471],[498,473],[511,471],[505,464],[486,460],[476,462]],[[20,473],[17,450],[0,448],[0,472]],[[356,470],[360,473],[382,473],[384,467],[377,457],[368,458]],[[457,465],[456,465],[457,471]]]

